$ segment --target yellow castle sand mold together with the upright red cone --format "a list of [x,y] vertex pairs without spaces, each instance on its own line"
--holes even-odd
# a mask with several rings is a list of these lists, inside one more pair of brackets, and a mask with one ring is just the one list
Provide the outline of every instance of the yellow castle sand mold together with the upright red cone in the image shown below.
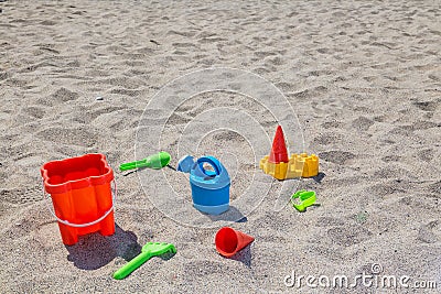
[[311,177],[319,174],[319,157],[306,153],[293,153],[288,157],[283,130],[281,126],[278,126],[271,152],[260,160],[259,167],[277,179]]

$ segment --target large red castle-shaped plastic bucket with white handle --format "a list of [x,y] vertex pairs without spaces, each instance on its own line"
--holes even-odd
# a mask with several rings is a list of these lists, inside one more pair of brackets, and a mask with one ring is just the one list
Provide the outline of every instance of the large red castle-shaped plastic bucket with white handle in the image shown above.
[[[110,183],[114,172],[103,154],[86,154],[45,163],[41,167],[44,190],[51,194],[63,243],[75,244],[78,236],[115,232]],[[114,182],[115,183],[115,182]],[[116,193],[116,188],[115,188]]]

